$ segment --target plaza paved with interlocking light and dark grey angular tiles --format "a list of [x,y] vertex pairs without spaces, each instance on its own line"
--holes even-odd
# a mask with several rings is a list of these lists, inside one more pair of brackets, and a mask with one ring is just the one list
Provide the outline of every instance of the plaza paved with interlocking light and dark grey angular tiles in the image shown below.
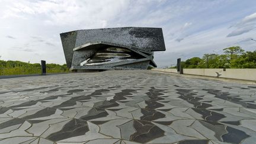
[[156,71],[0,79],[0,143],[255,143],[256,85]]

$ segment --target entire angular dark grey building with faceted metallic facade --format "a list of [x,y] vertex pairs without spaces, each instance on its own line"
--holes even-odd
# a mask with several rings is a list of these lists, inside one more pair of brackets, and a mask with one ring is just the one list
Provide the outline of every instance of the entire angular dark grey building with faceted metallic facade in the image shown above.
[[120,27],[60,34],[71,70],[147,69],[154,51],[164,51],[162,28]]

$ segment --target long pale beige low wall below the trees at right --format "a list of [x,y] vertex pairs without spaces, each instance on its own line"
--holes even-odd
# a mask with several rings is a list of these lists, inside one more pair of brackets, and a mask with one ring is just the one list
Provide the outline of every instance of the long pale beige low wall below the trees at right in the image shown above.
[[[161,72],[177,73],[177,69],[153,69]],[[218,78],[244,79],[256,81],[256,69],[183,69],[184,74],[213,76]]]

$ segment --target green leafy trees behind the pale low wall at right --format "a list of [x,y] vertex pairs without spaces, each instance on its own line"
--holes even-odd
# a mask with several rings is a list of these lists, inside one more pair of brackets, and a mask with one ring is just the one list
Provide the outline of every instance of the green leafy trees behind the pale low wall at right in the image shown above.
[[[206,53],[181,62],[183,68],[256,68],[256,50],[245,52],[239,46],[223,49],[222,55]],[[171,68],[176,68],[171,67]]]

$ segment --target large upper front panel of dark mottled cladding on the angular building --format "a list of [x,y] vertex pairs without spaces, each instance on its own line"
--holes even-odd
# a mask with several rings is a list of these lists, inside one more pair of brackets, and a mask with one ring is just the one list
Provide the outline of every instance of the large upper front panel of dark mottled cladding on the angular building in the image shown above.
[[94,41],[108,41],[148,52],[165,50],[162,28],[123,27],[79,30],[75,47]]

